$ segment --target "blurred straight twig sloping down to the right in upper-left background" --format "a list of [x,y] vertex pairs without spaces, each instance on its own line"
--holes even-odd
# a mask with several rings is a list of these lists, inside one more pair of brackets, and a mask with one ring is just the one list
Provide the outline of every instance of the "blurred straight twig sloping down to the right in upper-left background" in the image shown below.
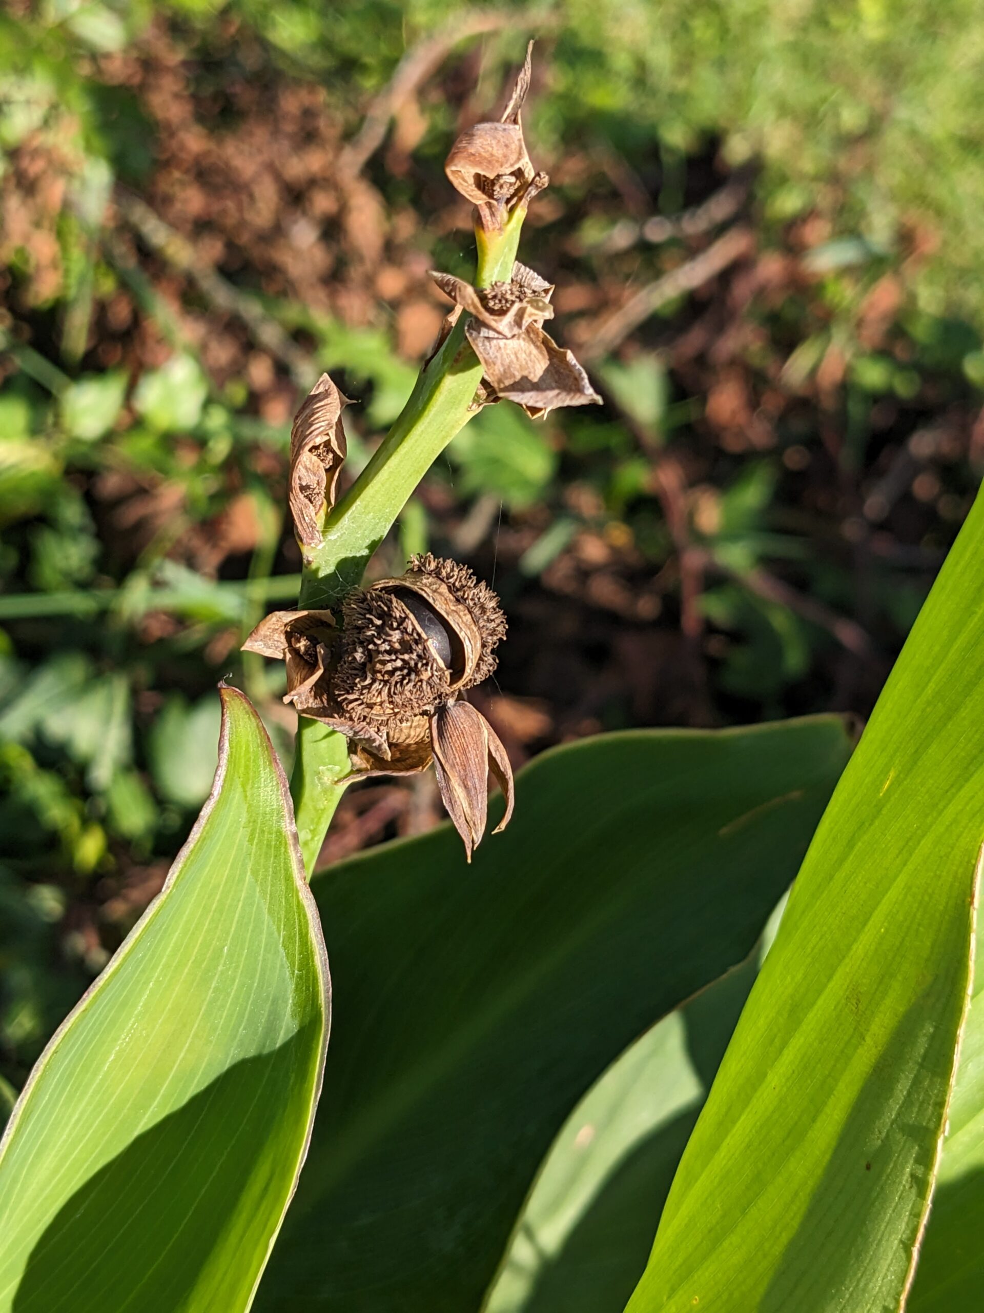
[[253,297],[199,260],[188,238],[165,223],[139,196],[117,186],[114,200],[122,218],[151,251],[189,277],[213,306],[241,319],[255,340],[290,370],[299,389],[307,391],[311,387],[318,377],[316,365]]

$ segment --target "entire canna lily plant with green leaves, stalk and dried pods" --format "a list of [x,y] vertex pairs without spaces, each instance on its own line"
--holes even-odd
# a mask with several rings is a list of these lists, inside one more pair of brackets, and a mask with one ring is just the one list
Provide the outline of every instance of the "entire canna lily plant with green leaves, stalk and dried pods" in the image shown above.
[[[302,592],[245,642],[285,663],[293,777],[223,685],[213,793],[0,1144],[0,1313],[976,1306],[984,502],[853,756],[825,716],[513,781],[468,701],[496,595],[429,553],[363,580],[483,406],[600,400],[517,260],[530,80],[527,50],[451,147],[476,276],[433,274],[453,309],[344,496],[346,398],[298,410]],[[457,836],[311,880],[345,788],[432,767]]]

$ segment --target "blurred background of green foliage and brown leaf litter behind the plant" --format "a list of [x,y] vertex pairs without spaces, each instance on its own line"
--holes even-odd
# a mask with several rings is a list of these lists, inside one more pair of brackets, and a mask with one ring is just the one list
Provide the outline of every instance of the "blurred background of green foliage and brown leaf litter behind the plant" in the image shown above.
[[[350,478],[467,276],[442,173],[529,35],[523,259],[605,406],[487,408],[373,563],[510,614],[516,763],[626,725],[865,714],[984,458],[970,0],[227,4],[0,16],[0,1071],[156,893],[239,643],[297,595],[285,454],[332,370]],[[346,798],[332,860],[438,817]],[[9,1092],[9,1091],[8,1091]]]

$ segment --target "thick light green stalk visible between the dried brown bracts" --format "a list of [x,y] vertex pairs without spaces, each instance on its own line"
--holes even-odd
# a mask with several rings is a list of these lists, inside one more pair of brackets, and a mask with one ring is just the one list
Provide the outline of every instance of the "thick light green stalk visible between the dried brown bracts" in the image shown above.
[[[525,210],[517,210],[501,235],[479,234],[478,286],[510,277],[523,217]],[[464,337],[462,316],[369,465],[328,516],[321,545],[304,557],[302,607],[335,607],[359,583],[417,483],[471,418],[480,379],[482,365]],[[348,775],[345,738],[302,716],[290,790],[308,874]]]

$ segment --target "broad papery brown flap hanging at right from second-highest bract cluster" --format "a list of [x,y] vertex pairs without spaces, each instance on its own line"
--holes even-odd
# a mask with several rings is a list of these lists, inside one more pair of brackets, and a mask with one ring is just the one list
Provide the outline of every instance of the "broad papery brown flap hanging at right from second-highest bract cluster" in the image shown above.
[[464,332],[487,385],[504,400],[518,402],[537,416],[558,406],[601,403],[571,352],[562,351],[538,324],[529,324],[517,337],[502,337],[471,319]]

